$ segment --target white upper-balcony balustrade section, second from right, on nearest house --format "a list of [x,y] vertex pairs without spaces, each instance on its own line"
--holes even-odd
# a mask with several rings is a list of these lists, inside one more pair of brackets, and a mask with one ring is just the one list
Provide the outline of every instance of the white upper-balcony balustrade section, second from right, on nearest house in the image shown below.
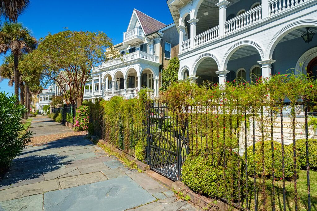
[[225,34],[254,24],[262,19],[262,6],[258,6],[224,23]]

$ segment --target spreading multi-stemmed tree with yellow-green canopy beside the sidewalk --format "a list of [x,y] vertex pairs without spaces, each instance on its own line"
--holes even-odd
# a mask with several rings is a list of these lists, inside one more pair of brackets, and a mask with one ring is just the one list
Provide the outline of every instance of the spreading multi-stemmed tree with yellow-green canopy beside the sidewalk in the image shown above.
[[[72,104],[77,101],[80,106],[93,67],[115,56],[106,53],[106,48],[112,46],[103,32],[66,30],[41,39],[31,54],[33,65],[42,68],[43,80],[58,84],[65,93],[65,101]],[[64,84],[68,84],[69,92]]]

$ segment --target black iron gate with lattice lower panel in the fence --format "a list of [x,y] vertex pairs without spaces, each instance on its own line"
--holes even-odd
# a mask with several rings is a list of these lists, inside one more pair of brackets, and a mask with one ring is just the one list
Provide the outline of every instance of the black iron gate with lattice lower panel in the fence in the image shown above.
[[[184,157],[188,154],[185,131],[179,124],[179,112],[169,112],[166,105],[151,107],[148,113],[147,163],[172,180],[179,180]],[[183,127],[179,127],[183,126]]]

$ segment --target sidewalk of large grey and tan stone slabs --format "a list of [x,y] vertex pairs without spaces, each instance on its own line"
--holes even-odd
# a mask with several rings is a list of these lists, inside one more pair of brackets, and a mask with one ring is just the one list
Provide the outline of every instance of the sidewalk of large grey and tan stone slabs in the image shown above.
[[[33,122],[31,129],[44,134],[46,143],[25,149],[3,175],[0,211],[199,210],[107,155],[85,135],[65,136],[68,129],[45,117]],[[52,138],[52,131],[62,138]]]

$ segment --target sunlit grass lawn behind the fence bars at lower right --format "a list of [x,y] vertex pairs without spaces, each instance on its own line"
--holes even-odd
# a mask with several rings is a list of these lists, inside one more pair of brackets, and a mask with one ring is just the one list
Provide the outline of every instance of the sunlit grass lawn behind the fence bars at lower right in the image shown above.
[[[266,180],[266,206],[263,207],[262,180],[256,179],[256,188],[259,190],[257,195],[258,210],[272,210],[272,180]],[[275,210],[283,210],[283,183],[275,181]],[[253,178],[249,178],[249,209],[254,210],[254,190]],[[286,189],[286,210],[295,210],[294,202],[294,181],[285,181]],[[300,170],[297,180],[298,210],[308,210],[307,202],[307,177],[306,171]],[[317,211],[317,171],[310,171],[310,199],[312,211]],[[244,201],[245,203],[245,201]],[[243,206],[245,207],[245,205]]]

